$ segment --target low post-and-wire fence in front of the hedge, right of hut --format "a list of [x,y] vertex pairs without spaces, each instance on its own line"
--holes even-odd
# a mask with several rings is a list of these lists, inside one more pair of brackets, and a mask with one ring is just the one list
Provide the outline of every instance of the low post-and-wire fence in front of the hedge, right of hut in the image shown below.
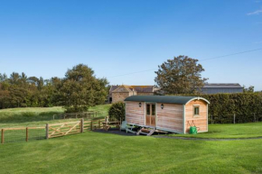
[[209,124],[244,124],[262,122],[262,114],[210,114]]

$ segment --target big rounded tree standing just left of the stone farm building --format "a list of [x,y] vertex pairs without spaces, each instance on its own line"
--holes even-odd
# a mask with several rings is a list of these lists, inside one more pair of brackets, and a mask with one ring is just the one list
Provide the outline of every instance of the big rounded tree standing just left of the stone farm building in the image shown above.
[[96,78],[88,66],[79,64],[66,72],[60,88],[61,99],[68,113],[88,111],[107,96],[106,78]]

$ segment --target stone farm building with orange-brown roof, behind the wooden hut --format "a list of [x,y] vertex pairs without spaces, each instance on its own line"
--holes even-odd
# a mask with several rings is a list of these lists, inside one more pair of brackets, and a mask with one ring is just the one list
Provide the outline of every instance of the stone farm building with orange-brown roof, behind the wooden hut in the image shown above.
[[112,86],[109,90],[108,103],[124,102],[128,96],[153,96],[159,90],[154,86]]

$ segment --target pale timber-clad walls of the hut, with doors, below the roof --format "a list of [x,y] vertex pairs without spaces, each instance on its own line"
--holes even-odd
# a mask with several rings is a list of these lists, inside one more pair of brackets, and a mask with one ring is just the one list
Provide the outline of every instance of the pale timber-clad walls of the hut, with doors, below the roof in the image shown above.
[[199,132],[207,132],[207,110],[208,104],[201,99],[192,100],[186,105],[127,101],[126,122],[140,126],[155,126],[157,129],[173,133],[189,133],[190,126],[195,125]]

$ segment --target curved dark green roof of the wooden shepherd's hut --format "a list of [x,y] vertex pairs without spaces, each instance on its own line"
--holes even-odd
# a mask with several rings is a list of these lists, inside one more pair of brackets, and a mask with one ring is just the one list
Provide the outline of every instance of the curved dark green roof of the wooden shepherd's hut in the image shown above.
[[210,102],[207,99],[199,96],[128,96],[125,99],[125,101],[186,105],[192,100],[200,100],[200,99],[210,104]]

